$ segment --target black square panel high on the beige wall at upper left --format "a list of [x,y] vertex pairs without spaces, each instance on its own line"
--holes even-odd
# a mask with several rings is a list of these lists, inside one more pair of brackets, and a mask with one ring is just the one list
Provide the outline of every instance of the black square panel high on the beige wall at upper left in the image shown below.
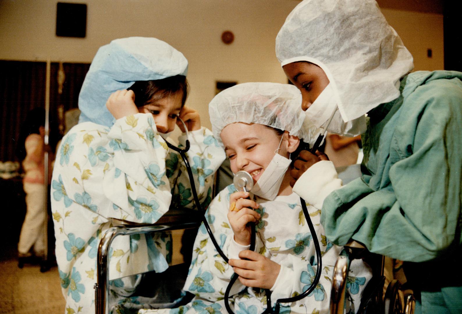
[[56,36],[85,37],[86,4],[58,2]]

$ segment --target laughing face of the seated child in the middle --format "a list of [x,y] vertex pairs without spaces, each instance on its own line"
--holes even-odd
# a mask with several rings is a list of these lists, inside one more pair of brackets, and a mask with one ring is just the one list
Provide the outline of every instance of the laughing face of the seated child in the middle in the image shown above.
[[[279,154],[288,158],[289,153],[297,148],[298,138],[289,136],[287,132],[282,136]],[[281,135],[271,128],[242,122],[228,124],[221,131],[220,137],[225,145],[226,156],[230,158],[231,171],[247,171],[254,183],[273,159],[281,140]]]

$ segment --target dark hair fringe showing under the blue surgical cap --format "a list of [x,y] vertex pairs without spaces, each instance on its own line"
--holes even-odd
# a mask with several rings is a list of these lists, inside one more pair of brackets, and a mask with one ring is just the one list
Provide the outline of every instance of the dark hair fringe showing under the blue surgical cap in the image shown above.
[[184,106],[186,97],[188,97],[188,89],[188,81],[184,75],[175,75],[151,81],[136,81],[128,88],[129,91],[135,93],[136,107],[142,107],[153,99],[162,99],[178,91],[182,91],[181,105]]

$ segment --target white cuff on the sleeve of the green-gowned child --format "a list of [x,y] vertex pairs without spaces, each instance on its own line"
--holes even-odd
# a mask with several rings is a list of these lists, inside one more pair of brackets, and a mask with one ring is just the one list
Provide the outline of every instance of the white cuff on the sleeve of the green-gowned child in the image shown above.
[[292,191],[305,202],[321,209],[324,199],[341,186],[342,181],[338,178],[334,163],[322,160],[312,165],[298,178]]

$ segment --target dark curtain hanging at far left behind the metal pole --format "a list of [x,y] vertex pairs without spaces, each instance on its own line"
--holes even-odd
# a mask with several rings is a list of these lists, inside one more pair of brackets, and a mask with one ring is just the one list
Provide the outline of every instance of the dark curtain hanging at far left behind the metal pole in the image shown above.
[[[63,111],[78,107],[79,92],[90,64],[64,63],[66,75],[62,94],[58,94],[59,64],[50,68],[50,145],[54,150],[61,138],[58,107]],[[45,107],[45,62],[0,60],[0,160],[17,160],[15,149],[27,112]]]

